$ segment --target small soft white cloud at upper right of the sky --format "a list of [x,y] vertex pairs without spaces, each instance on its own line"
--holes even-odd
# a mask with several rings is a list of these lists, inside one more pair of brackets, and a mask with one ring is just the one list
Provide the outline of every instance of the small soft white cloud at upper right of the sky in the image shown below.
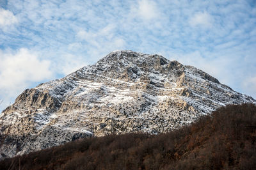
[[195,13],[195,15],[189,19],[189,24],[191,26],[212,27],[214,24],[213,22],[214,19],[212,15],[207,12]]

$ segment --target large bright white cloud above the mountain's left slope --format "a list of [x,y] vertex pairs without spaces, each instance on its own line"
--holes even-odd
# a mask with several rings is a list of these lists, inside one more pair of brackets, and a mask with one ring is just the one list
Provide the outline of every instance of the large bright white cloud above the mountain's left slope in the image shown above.
[[0,50],[0,98],[6,107],[33,82],[51,79],[50,61],[41,60],[28,49],[11,51]]

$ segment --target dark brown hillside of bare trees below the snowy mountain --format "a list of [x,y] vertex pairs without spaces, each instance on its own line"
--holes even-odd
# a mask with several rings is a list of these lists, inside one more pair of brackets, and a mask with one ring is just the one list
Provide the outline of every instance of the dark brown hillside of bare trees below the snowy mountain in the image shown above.
[[256,106],[227,105],[166,134],[92,137],[6,158],[0,169],[256,169]]

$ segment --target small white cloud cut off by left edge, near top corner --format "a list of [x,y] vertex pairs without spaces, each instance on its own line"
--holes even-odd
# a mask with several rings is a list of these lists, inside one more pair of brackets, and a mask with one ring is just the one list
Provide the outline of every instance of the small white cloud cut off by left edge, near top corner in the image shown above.
[[0,8],[0,28],[7,29],[8,26],[17,24],[18,19],[9,10],[4,10]]

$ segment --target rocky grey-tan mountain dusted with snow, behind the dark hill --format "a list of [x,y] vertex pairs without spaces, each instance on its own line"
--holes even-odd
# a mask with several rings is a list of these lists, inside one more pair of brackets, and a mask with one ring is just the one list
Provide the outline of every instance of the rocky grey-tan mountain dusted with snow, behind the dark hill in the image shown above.
[[166,132],[244,102],[256,103],[193,66],[157,54],[115,51],[20,94],[0,115],[1,157],[92,135]]

